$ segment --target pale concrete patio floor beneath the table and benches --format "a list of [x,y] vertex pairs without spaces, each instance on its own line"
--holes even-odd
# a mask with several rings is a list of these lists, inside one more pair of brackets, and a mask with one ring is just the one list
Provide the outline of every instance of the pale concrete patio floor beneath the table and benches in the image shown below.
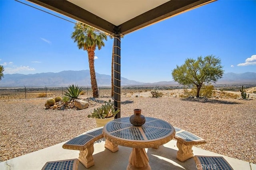
[[[63,149],[59,143],[36,152],[25,154],[4,162],[0,162],[0,170],[41,170],[48,161],[65,160],[78,158],[78,150]],[[112,153],[104,148],[105,139],[94,143],[94,163],[90,170],[126,170],[129,155],[132,148],[118,146],[119,150]],[[208,150],[197,147],[192,148],[194,155],[223,156]],[[196,170],[196,163],[193,158],[180,162],[176,159],[178,148],[176,141],[172,140],[158,149],[146,149],[149,164],[152,170]],[[256,164],[223,156],[234,170],[256,170]],[[79,163],[78,170],[86,170],[83,164]]]

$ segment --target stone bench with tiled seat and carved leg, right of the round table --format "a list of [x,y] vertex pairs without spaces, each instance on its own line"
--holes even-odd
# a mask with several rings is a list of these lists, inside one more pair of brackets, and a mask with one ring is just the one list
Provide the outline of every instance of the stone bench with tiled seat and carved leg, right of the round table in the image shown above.
[[174,127],[176,134],[174,139],[177,140],[177,159],[181,162],[188,160],[194,156],[192,147],[194,145],[202,145],[205,144],[206,141],[188,131],[180,129],[178,127]]

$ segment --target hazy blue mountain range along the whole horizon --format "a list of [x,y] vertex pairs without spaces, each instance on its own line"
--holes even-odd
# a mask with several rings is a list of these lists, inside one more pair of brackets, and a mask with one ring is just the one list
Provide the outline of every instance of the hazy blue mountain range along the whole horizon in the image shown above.
[[[98,86],[111,86],[111,76],[96,73]],[[218,80],[216,84],[241,84],[255,83],[256,72],[245,72],[241,74],[224,73],[223,78]],[[62,72],[46,72],[36,74],[4,74],[0,81],[0,87],[20,87],[20,86],[68,86],[77,84],[79,86],[90,86],[90,71],[62,71]],[[134,80],[128,80],[121,77],[121,86],[163,86],[178,85],[174,81],[163,81],[155,83],[144,83]]]

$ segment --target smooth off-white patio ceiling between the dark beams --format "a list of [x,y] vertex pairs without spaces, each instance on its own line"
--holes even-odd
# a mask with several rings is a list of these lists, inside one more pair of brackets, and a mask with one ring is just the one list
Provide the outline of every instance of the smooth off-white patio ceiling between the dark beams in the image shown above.
[[170,0],[68,0],[118,26]]

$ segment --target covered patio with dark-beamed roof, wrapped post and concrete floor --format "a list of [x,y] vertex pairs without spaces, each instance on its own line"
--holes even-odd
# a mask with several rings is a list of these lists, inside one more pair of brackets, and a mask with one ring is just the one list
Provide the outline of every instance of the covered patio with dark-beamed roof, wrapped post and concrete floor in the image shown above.
[[[120,109],[116,118],[121,117],[121,37],[148,25],[168,19],[188,10],[198,8],[216,0],[28,0],[74,20],[80,21],[106,32],[114,37],[114,106]],[[125,7],[125,8],[124,8]],[[138,40],[139,41],[139,40]],[[65,143],[65,142],[64,142]],[[62,148],[64,143],[54,145],[30,154],[26,154],[0,163],[0,169],[41,169],[48,161],[77,158],[78,150]],[[105,139],[94,143],[94,162],[91,170],[121,170],[126,169],[132,148],[122,147],[118,152],[112,153],[104,147]],[[223,156],[193,147],[194,155]],[[151,168],[157,169],[197,169],[193,159],[180,162],[176,159],[178,148],[176,141],[172,140],[158,149],[149,148],[146,152]],[[234,170],[256,169],[255,164],[223,156]],[[86,169],[80,162],[79,170]]]

